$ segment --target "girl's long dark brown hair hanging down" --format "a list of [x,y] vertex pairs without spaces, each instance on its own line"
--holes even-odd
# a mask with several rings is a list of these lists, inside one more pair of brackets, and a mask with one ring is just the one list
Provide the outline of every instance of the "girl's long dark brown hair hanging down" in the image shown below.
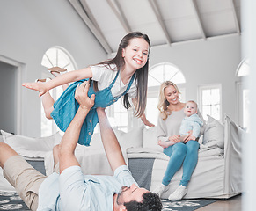
[[[143,34],[140,32],[128,33],[121,40],[115,57],[113,59],[106,60],[104,62],[99,62],[99,64],[104,64],[109,69],[112,69],[111,64],[115,64],[116,68],[118,70],[121,70],[125,64],[124,58],[122,57],[122,49],[128,47],[129,41],[134,38],[143,38],[145,41],[148,42],[149,46],[151,46],[150,39],[147,34]],[[148,60],[146,64],[143,66],[143,68],[137,69],[135,72],[135,80],[136,80],[136,88],[137,88],[137,95],[136,95],[137,105],[135,107],[135,116],[137,117],[141,117],[146,109],[147,94],[148,94],[148,73],[149,73],[149,55],[148,55]],[[97,82],[95,81],[93,82],[93,87],[94,87],[94,90],[98,91]],[[130,102],[128,100],[128,93],[124,95],[123,106],[126,109],[131,107]]]

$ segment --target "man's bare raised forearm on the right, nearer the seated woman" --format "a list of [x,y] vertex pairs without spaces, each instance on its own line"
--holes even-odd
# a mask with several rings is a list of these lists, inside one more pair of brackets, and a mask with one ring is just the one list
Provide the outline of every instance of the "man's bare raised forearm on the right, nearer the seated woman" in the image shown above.
[[97,108],[97,113],[99,117],[101,140],[106,152],[108,162],[112,171],[114,172],[116,168],[121,165],[125,165],[126,163],[121,153],[120,144],[117,141],[117,138],[113,133],[113,129],[107,120],[105,109]]

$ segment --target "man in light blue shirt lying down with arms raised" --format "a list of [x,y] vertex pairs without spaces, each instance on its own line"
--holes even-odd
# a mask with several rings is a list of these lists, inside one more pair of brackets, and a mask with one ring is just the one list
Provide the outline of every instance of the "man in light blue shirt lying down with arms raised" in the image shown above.
[[32,210],[160,211],[162,204],[158,195],[139,188],[128,171],[119,142],[102,108],[97,110],[100,133],[113,176],[83,174],[74,151],[84,119],[94,104],[94,96],[87,96],[88,89],[86,83],[77,87],[76,99],[80,107],[60,146],[54,150],[60,174],[42,175],[9,145],[0,143],[0,165],[4,178],[16,188],[21,199]]

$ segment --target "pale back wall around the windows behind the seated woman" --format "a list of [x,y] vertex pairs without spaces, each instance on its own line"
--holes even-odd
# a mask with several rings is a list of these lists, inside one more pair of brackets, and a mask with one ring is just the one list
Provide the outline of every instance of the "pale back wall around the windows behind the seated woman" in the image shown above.
[[152,47],[150,52],[150,66],[171,62],[183,72],[187,80],[187,99],[197,100],[199,85],[222,84],[223,114],[236,121],[235,74],[240,61],[240,35],[194,40],[171,47]]

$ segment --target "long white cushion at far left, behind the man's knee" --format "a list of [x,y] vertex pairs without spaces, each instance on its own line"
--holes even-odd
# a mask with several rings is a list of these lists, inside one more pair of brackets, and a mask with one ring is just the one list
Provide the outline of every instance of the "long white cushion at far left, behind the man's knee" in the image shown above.
[[59,133],[47,137],[32,138],[24,135],[12,135],[1,130],[4,142],[17,151],[20,156],[43,157],[46,152],[51,151],[62,136]]

